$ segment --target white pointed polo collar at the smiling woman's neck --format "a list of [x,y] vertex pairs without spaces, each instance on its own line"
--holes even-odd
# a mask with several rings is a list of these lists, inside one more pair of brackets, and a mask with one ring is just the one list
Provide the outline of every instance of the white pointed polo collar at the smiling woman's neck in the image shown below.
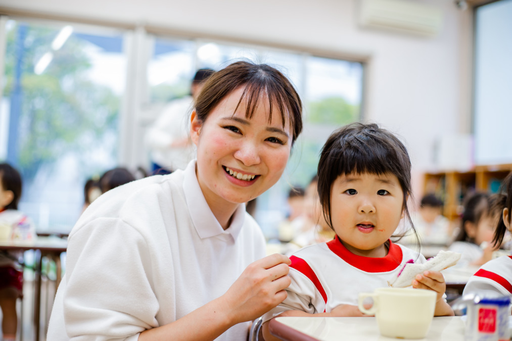
[[196,176],[196,160],[188,163],[183,174],[183,191],[190,212],[190,218],[201,239],[229,235],[236,241],[245,219],[245,204],[238,205],[231,219],[231,224],[224,230],[214,213],[206,203]]

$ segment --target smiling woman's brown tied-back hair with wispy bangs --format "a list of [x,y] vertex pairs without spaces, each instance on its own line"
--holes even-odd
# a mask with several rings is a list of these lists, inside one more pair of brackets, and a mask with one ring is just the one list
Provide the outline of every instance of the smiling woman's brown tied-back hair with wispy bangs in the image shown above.
[[[302,132],[302,102],[290,81],[278,70],[266,64],[237,61],[212,74],[204,83],[195,103],[197,118],[204,122],[224,97],[244,87],[237,108],[247,100],[245,117],[251,118],[262,96],[269,103],[268,121],[272,119],[273,106],[281,113],[283,126],[290,120],[292,143]],[[235,111],[236,111],[235,110]],[[233,113],[234,114],[234,113]]]

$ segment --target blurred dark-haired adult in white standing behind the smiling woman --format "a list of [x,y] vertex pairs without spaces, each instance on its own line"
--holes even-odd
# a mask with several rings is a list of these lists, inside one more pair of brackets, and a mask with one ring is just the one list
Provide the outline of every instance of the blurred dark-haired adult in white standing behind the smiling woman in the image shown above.
[[195,157],[195,147],[188,133],[188,117],[193,101],[204,81],[214,73],[212,69],[199,69],[190,86],[190,96],[171,101],[147,130],[145,141],[151,151],[152,173],[169,174],[185,169]]

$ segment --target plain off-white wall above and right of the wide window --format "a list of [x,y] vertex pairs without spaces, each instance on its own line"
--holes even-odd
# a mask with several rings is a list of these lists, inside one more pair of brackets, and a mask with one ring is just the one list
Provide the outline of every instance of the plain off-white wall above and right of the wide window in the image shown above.
[[0,0],[0,7],[367,58],[365,118],[407,142],[421,187],[435,139],[470,129],[471,11],[452,1],[415,1],[443,10],[437,37],[360,29],[357,0]]

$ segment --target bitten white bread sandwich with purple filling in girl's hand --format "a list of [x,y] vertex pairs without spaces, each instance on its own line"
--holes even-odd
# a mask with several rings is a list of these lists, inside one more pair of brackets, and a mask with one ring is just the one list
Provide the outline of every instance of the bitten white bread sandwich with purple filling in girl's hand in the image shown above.
[[425,263],[407,263],[403,266],[398,275],[393,276],[388,281],[390,287],[405,288],[412,285],[412,282],[418,273],[423,271],[441,271],[457,264],[460,259],[460,253],[452,251],[439,251],[436,257],[427,260]]

